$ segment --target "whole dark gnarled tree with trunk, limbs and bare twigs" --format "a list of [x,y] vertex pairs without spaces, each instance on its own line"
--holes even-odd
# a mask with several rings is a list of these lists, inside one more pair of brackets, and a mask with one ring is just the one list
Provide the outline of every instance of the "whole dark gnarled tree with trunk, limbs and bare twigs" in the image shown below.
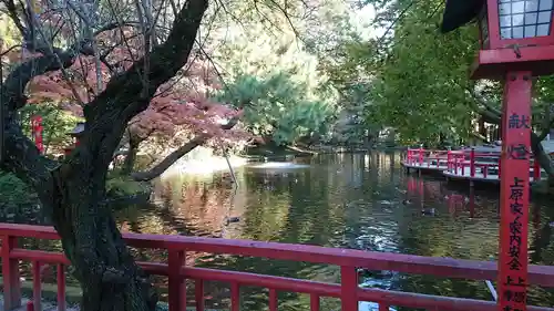
[[[155,291],[105,209],[107,167],[129,122],[187,63],[208,3],[174,2],[172,14],[160,21],[153,14],[158,7],[148,3],[120,1],[94,8],[100,3],[43,1],[41,12],[13,0],[0,4],[28,51],[9,64],[1,85],[1,168],[32,186],[51,216],[83,289],[81,310],[154,310],[156,303]],[[126,32],[133,35],[130,28],[140,30],[137,43],[127,40]],[[113,46],[122,45],[130,56],[114,61],[119,56],[112,59]],[[93,56],[94,71],[81,70],[86,56]],[[111,74],[104,74],[102,64]],[[88,76],[86,94],[75,82],[80,70]],[[37,96],[73,96],[82,106],[83,137],[64,160],[42,156],[21,131],[17,112],[32,101],[30,91]]]

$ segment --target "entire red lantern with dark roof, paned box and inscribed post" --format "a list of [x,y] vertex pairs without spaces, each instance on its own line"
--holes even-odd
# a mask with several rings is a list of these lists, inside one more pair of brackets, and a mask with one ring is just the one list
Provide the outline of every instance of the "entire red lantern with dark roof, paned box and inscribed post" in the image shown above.
[[[526,310],[532,79],[554,73],[553,0],[447,0],[442,31],[479,21],[472,79],[501,80],[499,311]],[[500,172],[499,172],[500,173]]]

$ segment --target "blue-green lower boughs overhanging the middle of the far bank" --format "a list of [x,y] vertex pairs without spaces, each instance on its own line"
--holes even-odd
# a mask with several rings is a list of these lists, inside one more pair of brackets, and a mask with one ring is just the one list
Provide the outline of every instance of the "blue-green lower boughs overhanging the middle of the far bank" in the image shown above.
[[[277,73],[266,80],[238,75],[218,100],[236,106],[246,104],[246,127],[254,135],[270,137],[277,145],[286,145],[299,137],[328,131],[326,123],[336,111],[332,97],[331,101],[324,101],[310,96],[309,91],[305,83],[295,83],[291,74]],[[326,91],[321,94],[332,92]]]

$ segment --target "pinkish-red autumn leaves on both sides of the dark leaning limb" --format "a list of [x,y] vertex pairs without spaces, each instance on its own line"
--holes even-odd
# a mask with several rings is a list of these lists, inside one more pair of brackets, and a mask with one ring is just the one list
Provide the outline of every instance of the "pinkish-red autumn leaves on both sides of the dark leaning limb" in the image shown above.
[[[55,15],[49,15],[48,21],[53,19]],[[129,69],[134,60],[142,56],[141,40],[133,28],[106,31],[96,39],[99,50],[111,51],[104,60],[109,65],[94,56],[79,55],[64,72],[51,72],[33,79],[27,90],[29,102],[58,102],[63,110],[82,116],[82,105],[103,91],[113,74]],[[1,48],[0,44],[0,52]],[[14,49],[4,55],[4,61],[18,63],[39,55]],[[162,85],[150,107],[130,122],[131,134],[141,141],[152,135],[171,138],[182,135],[183,131],[187,136],[203,133],[223,141],[246,138],[245,132],[222,129],[222,124],[237,117],[240,111],[209,100],[208,93],[217,91],[220,85],[216,71],[209,62],[194,53],[191,58],[182,76]],[[100,74],[96,73],[98,68]]]

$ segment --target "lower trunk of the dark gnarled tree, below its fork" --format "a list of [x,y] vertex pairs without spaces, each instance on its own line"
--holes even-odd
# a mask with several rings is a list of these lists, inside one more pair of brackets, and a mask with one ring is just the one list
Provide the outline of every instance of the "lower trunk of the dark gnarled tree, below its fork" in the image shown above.
[[112,212],[102,206],[105,179],[64,168],[54,175],[52,220],[83,290],[81,310],[155,310],[154,288],[134,262]]

